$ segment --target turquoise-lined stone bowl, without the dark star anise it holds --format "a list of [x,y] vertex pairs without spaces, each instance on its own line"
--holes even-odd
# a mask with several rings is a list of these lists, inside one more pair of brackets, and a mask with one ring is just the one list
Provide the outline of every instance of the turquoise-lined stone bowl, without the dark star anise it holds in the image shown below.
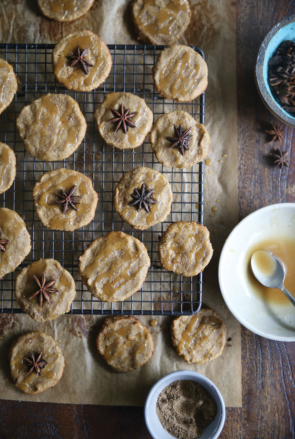
[[279,100],[273,97],[267,79],[269,59],[282,41],[295,40],[295,14],[283,18],[267,33],[261,46],[259,47],[256,66],[255,83],[259,95],[266,108],[281,122],[290,126],[295,126],[295,115],[291,115],[281,108]]

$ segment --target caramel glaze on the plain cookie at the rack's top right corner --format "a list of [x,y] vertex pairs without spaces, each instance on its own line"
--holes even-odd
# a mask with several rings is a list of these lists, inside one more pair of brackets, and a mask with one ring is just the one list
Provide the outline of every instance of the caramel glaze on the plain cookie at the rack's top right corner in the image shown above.
[[[183,52],[183,54],[181,54]],[[171,83],[172,96],[180,93],[184,99],[189,98],[191,90],[199,83],[200,65],[192,63],[192,55],[189,51],[180,48],[169,63],[162,68],[159,76],[159,89],[167,88]]]

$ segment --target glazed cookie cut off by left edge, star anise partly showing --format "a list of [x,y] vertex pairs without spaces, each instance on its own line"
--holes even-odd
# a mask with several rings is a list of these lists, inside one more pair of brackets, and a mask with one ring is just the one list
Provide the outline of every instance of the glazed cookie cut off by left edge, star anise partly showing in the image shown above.
[[14,210],[0,207],[0,278],[14,271],[30,251],[25,221]]

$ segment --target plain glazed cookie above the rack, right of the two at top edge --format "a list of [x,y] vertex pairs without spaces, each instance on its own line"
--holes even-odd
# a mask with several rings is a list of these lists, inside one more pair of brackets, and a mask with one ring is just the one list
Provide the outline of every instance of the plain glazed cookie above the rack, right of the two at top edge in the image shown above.
[[135,0],[131,18],[138,39],[149,44],[173,44],[191,19],[187,0]]

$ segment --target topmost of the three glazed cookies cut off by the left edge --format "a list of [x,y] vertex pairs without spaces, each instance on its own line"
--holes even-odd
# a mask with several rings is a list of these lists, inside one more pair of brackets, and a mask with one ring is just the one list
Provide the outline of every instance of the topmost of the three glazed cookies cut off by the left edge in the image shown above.
[[11,103],[18,90],[18,82],[12,65],[0,58],[0,113]]

